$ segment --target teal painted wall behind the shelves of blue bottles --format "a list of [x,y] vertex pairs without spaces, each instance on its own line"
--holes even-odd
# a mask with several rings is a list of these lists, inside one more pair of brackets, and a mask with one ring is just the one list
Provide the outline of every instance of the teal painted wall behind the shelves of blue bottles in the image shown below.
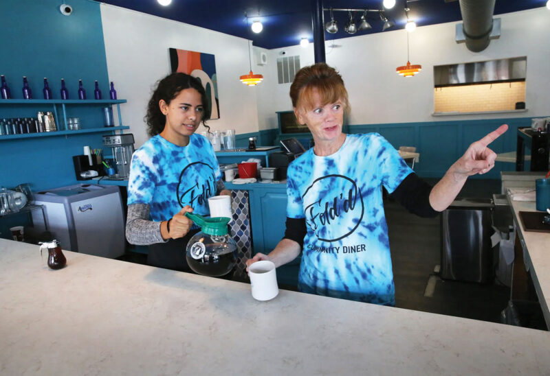
[[[54,98],[60,98],[65,78],[69,98],[77,99],[78,80],[83,80],[87,98],[94,98],[98,80],[104,99],[109,98],[107,58],[103,42],[100,4],[88,0],[69,1],[74,12],[63,16],[59,0],[2,0],[0,74],[6,76],[13,98],[22,98],[23,75],[32,95],[43,99],[47,77]],[[106,97],[107,95],[107,97]],[[1,99],[0,99],[1,101]],[[124,105],[123,105],[124,106]],[[0,117],[36,117],[36,111],[52,106],[0,104]],[[71,105],[67,116],[80,117],[83,128],[103,125],[100,106]],[[56,119],[59,124],[61,119]],[[102,148],[101,134],[67,137],[2,140],[0,136],[0,186],[31,183],[34,190],[74,184],[72,156],[83,146]]]

